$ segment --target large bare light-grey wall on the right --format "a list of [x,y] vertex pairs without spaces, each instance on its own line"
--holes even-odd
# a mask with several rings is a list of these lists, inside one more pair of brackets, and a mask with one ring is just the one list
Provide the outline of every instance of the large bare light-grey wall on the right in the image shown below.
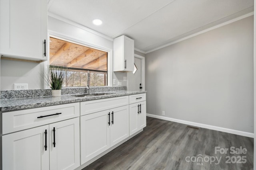
[[253,16],[145,60],[147,113],[254,132]]

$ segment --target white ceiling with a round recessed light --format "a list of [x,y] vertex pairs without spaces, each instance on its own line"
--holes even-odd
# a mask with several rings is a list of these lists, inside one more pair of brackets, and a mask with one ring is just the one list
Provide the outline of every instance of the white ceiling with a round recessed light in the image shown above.
[[[49,0],[48,11],[152,51],[253,11],[254,0]],[[96,26],[92,20],[101,19]]]

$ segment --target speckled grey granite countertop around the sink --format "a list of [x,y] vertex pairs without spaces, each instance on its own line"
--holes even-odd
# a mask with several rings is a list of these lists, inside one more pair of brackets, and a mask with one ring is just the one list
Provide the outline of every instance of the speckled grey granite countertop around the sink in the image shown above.
[[2,112],[16,111],[21,109],[31,109],[36,107],[54,106],[59,104],[68,104],[75,102],[84,102],[88,100],[97,100],[104,98],[113,98],[118,96],[128,96],[132,94],[146,93],[146,91],[128,91],[128,90],[118,90],[118,91],[108,91],[107,94],[102,96],[84,96],[76,97],[74,94],[62,95],[61,97],[36,97],[36,98],[19,98],[19,99],[5,99],[0,100],[0,109]]

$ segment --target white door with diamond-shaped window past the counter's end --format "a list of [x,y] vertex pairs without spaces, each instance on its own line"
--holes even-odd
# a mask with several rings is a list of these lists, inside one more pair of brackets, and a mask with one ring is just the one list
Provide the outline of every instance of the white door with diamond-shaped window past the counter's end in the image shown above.
[[134,57],[134,71],[127,72],[127,90],[140,91],[142,83],[142,59]]

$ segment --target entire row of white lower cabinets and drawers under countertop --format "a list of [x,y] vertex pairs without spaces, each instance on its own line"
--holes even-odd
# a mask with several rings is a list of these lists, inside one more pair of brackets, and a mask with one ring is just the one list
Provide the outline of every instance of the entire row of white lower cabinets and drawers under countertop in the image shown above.
[[74,170],[144,127],[146,94],[2,113],[2,169]]

